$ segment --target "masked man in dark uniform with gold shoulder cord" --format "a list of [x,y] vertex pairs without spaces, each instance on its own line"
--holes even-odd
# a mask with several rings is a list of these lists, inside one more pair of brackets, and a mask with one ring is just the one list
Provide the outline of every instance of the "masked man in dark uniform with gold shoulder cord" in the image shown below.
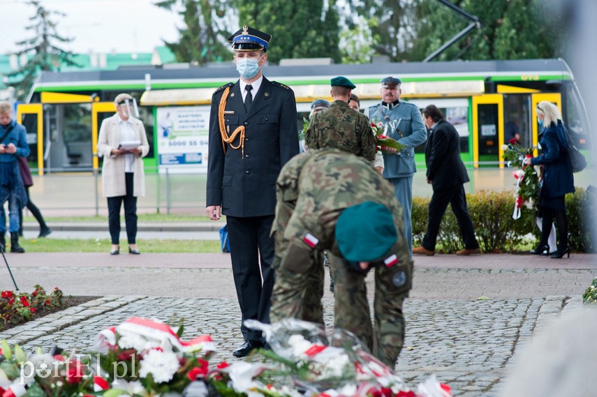
[[261,73],[271,38],[249,27],[228,38],[240,80],[216,90],[209,120],[207,215],[212,220],[226,215],[228,225],[244,337],[235,357],[264,343],[244,320],[270,322],[276,179],[299,152],[294,93]]

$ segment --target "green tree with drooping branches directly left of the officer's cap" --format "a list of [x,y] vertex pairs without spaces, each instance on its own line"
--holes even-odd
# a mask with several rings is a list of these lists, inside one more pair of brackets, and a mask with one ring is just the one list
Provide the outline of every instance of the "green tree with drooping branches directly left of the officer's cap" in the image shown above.
[[172,10],[181,7],[185,27],[178,29],[180,38],[177,43],[164,41],[179,62],[191,62],[204,65],[210,61],[230,59],[223,37],[228,33],[220,29],[224,10],[229,6],[226,0],[163,0],[156,6]]

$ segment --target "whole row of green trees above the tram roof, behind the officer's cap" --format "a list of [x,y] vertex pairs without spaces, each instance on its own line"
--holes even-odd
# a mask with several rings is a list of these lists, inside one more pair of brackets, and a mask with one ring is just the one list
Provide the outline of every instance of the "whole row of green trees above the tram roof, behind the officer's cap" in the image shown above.
[[[434,60],[530,59],[557,56],[557,23],[545,23],[541,0],[451,0],[479,18],[480,29]],[[272,35],[268,59],[331,57],[366,63],[422,61],[471,20],[438,0],[163,0],[184,6],[179,43],[166,43],[179,61],[227,59],[225,39],[244,25]],[[228,17],[225,20],[224,15]],[[555,28],[554,28],[555,27]]]

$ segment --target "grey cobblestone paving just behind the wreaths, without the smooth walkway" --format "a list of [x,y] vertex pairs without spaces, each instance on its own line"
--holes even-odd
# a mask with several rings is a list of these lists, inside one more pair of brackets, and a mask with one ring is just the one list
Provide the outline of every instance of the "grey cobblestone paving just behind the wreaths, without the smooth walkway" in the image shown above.
[[[332,327],[332,299],[325,299],[325,322]],[[397,373],[414,387],[432,373],[450,384],[454,396],[496,396],[510,362],[563,306],[582,306],[580,297],[453,301],[408,299],[405,348]],[[189,299],[107,296],[43,317],[4,332],[9,343],[26,350],[52,345],[93,348],[99,330],[128,317],[185,318],[185,336],[210,334],[219,349],[214,361],[236,360],[231,352],[242,343],[235,299]]]

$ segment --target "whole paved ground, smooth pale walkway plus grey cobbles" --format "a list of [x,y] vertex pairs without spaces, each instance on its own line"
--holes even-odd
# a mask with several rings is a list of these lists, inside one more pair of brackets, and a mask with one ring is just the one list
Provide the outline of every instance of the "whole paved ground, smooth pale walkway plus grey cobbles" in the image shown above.
[[[65,262],[35,267],[10,256],[11,264],[17,262],[13,274],[22,290],[36,280],[60,285],[67,294],[105,296],[3,331],[1,336],[29,351],[52,345],[89,350],[98,331],[128,317],[168,321],[178,315],[185,318],[184,338],[210,334],[219,345],[214,361],[235,360],[231,353],[242,336],[228,265],[207,257],[207,268],[197,268],[179,257],[160,267],[155,258],[163,257],[128,256],[128,264],[124,258],[110,264],[112,258],[103,255],[105,267],[98,266],[94,257],[80,260],[78,266]],[[534,257],[513,255],[417,260],[413,292],[404,304],[406,340],[397,373],[411,387],[436,374],[450,384],[454,396],[497,396],[533,334],[562,313],[582,307],[581,294],[597,276],[597,267],[594,256],[575,257],[576,262],[533,262]],[[513,259],[527,263],[509,267]],[[52,257],[47,262],[52,263]],[[10,287],[2,274],[0,289]],[[325,322],[332,327],[333,300],[327,290],[324,306]]]

